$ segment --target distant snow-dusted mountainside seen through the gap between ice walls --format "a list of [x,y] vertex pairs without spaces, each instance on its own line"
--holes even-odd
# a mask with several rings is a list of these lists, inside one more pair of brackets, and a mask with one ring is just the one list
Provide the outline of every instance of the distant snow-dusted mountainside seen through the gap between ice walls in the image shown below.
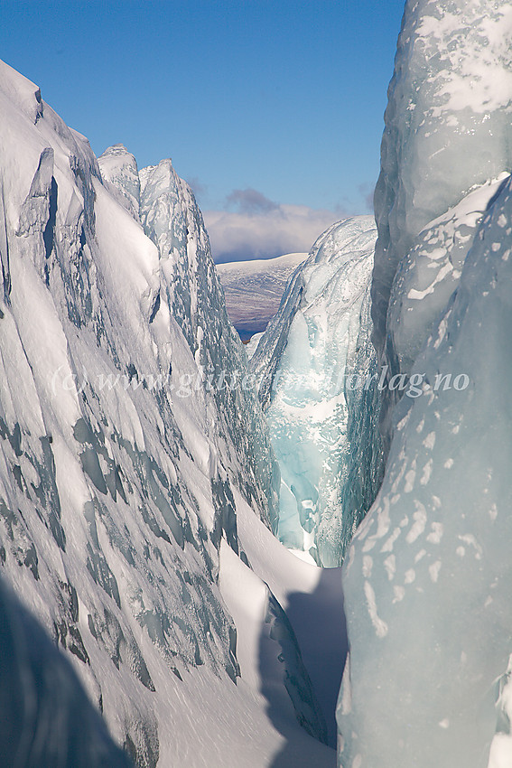
[[307,253],[288,253],[217,265],[229,319],[242,339],[265,331],[279,309],[288,278],[306,257]]

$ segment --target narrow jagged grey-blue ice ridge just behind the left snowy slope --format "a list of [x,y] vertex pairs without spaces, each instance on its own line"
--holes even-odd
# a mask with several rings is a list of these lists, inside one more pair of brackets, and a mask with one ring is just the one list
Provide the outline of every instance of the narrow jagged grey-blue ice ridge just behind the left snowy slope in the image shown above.
[[200,209],[169,160],[144,168],[140,176],[141,221],[159,248],[161,292],[166,292],[172,316],[207,381],[215,407],[210,424],[216,439],[225,444],[228,464],[237,467],[238,488],[275,529],[279,468],[256,392],[242,386],[246,357],[228,321]]

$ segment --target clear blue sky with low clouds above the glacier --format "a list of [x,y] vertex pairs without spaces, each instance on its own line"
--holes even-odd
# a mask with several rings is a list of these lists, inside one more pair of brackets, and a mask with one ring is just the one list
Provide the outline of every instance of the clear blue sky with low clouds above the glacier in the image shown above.
[[274,256],[369,210],[403,6],[2,0],[0,56],[97,155],[171,156],[218,257]]

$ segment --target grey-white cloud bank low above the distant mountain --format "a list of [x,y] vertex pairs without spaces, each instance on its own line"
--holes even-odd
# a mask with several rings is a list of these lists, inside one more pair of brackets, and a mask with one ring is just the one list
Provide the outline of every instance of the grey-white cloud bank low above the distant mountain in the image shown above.
[[345,218],[341,211],[278,204],[253,189],[231,192],[227,207],[235,210],[204,213],[217,263],[307,252],[330,224]]

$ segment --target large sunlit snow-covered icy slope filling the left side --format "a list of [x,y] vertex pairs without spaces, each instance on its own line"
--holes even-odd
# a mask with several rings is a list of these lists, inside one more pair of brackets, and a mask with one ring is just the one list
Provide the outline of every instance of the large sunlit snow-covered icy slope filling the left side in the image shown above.
[[[5,578],[138,765],[267,765],[293,739],[295,764],[332,764],[283,614],[320,574],[299,564],[272,592],[288,557],[270,532],[278,470],[256,394],[221,386],[246,355],[190,188],[170,161],[138,173],[120,146],[98,164],[5,64],[0,112]],[[278,549],[255,576],[262,536]],[[247,643],[268,636],[270,693],[237,660],[237,630],[250,633],[232,598],[242,573],[258,584]],[[290,702],[285,725],[274,693]]]

